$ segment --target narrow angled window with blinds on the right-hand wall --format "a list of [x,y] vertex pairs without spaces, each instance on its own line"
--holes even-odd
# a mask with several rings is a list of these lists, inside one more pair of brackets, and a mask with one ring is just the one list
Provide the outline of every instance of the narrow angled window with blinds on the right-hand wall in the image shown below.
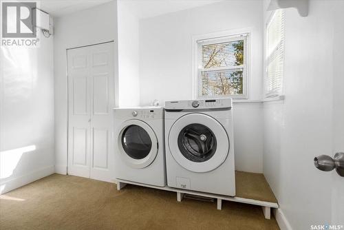
[[276,10],[267,24],[266,97],[283,92],[284,11]]

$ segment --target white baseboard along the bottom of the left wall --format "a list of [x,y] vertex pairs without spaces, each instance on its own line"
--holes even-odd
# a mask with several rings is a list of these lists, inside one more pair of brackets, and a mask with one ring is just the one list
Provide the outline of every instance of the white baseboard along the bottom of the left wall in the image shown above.
[[10,180],[6,180],[5,182],[1,182],[0,184],[0,194],[5,194],[8,191],[12,191],[24,185],[28,185],[30,182],[34,182],[35,180],[39,180],[45,176],[49,176],[54,174],[55,168],[54,165],[43,167],[36,171],[32,171],[24,176],[18,176],[16,178],[12,178]]

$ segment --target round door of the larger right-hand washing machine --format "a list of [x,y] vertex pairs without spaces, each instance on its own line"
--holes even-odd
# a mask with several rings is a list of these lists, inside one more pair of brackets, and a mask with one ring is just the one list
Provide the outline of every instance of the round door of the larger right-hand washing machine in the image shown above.
[[171,127],[169,148],[173,158],[185,169],[207,172],[224,163],[229,140],[224,127],[211,116],[187,114]]

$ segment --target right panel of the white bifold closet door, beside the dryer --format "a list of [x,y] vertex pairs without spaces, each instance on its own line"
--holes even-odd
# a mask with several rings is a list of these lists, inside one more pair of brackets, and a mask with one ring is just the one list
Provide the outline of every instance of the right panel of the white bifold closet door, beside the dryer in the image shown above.
[[91,53],[91,172],[96,180],[114,182],[112,116],[114,43],[89,47]]

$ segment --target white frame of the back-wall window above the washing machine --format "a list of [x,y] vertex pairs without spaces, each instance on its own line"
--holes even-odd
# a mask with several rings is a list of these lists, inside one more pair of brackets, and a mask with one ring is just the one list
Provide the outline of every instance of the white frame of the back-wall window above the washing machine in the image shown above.
[[[198,79],[198,71],[200,67],[200,41],[202,45],[206,43],[214,43],[218,41],[233,41],[237,40],[238,36],[246,36],[246,50],[244,50],[244,55],[246,55],[246,73],[243,74],[243,94],[242,95],[228,95],[228,96],[202,96],[199,95],[200,81]],[[227,30],[222,32],[214,32],[210,34],[200,34],[192,36],[192,98],[233,98],[233,99],[248,99],[250,94],[250,36],[251,28],[245,28],[241,30]],[[244,66],[235,66],[233,69],[238,69]],[[219,67],[218,69],[228,69],[230,67]]]

